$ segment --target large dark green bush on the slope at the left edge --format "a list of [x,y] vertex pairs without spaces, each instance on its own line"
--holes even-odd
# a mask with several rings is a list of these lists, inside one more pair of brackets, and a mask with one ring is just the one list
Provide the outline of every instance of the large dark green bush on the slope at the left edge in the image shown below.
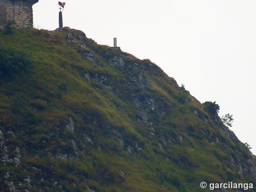
[[0,76],[13,75],[32,68],[32,60],[25,52],[0,46]]

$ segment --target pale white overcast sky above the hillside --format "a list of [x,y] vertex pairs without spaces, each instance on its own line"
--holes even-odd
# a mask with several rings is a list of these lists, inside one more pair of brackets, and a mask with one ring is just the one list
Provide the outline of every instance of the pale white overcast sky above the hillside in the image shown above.
[[[33,5],[34,27],[59,27],[59,5]],[[201,103],[216,101],[219,116],[256,155],[255,0],[66,0],[63,26],[98,44],[150,59]]]

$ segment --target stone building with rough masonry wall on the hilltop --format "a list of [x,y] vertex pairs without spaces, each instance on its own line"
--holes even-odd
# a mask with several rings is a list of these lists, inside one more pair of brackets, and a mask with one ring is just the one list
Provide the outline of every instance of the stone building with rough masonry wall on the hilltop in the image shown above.
[[0,29],[14,20],[17,29],[33,27],[32,5],[38,0],[0,0]]

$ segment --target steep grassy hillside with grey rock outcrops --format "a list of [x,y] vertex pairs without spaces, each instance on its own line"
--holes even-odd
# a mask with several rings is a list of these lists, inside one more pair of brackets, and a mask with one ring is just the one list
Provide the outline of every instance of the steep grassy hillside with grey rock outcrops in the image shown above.
[[70,28],[0,40],[1,191],[256,186],[255,156],[149,60]]

